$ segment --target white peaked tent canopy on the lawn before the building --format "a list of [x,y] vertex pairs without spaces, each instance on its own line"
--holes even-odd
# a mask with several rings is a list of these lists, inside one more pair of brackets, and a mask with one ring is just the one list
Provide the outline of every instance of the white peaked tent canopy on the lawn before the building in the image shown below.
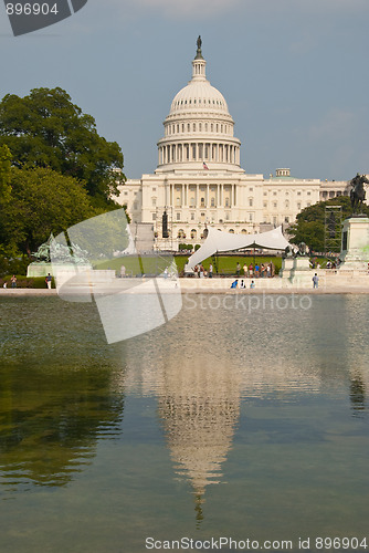
[[285,250],[289,246],[282,233],[282,227],[261,232],[260,234],[232,234],[213,228],[209,229],[208,238],[190,257],[187,268],[193,269],[210,255],[220,251],[241,250],[242,248],[265,248],[267,250]]

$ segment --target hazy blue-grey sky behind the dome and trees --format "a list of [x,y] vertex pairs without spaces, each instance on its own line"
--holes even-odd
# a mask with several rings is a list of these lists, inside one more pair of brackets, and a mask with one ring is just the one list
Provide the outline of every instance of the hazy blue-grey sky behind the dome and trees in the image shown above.
[[152,173],[201,34],[247,173],[369,173],[369,0],[88,0],[14,38],[0,6],[0,97],[61,86],[116,140],[130,178]]

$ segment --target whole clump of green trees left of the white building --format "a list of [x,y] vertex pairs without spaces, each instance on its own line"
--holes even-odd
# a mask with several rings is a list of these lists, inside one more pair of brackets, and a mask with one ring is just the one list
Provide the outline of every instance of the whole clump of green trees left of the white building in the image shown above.
[[62,88],[0,102],[0,273],[22,270],[50,234],[120,208],[126,179],[117,143]]

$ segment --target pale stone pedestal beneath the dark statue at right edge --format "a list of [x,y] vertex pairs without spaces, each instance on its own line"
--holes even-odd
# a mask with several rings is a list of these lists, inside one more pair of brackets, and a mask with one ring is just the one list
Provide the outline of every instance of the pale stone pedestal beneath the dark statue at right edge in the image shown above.
[[369,263],[369,219],[350,217],[344,221],[339,271],[367,270]]

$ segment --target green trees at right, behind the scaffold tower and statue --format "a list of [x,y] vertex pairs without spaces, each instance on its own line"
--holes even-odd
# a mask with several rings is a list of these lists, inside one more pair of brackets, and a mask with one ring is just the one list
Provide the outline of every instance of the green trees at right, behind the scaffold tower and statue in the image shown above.
[[[325,249],[325,210],[326,206],[342,206],[342,219],[352,215],[350,198],[339,196],[328,201],[319,201],[301,211],[296,217],[296,223],[288,229],[291,241],[294,243],[305,242],[310,250],[324,251]],[[362,212],[369,216],[369,207],[363,205]]]

